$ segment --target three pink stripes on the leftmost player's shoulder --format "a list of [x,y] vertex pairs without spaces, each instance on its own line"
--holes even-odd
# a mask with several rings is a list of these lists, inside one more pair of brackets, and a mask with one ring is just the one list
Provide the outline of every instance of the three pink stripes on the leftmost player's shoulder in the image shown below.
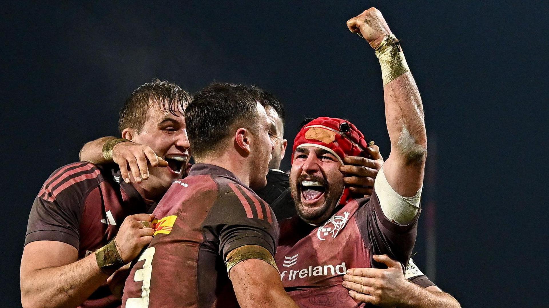
[[67,164],[55,170],[42,185],[38,198],[54,202],[83,197],[104,181],[102,170],[88,162]]

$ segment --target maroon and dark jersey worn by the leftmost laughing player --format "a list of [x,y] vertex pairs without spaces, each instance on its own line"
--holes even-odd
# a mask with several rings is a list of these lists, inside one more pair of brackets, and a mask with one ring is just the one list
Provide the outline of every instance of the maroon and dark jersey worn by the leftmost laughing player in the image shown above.
[[[128,215],[147,213],[147,204],[116,169],[77,162],[49,176],[32,204],[25,245],[58,241],[78,250],[79,260],[107,244]],[[80,307],[119,307],[105,284]]]

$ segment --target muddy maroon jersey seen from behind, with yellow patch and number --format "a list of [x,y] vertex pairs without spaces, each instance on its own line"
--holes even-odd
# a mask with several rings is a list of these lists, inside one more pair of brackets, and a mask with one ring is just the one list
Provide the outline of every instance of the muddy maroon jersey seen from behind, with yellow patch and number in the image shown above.
[[122,307],[238,306],[227,254],[254,244],[275,255],[278,223],[271,208],[221,167],[194,164],[154,213],[153,241],[133,264]]

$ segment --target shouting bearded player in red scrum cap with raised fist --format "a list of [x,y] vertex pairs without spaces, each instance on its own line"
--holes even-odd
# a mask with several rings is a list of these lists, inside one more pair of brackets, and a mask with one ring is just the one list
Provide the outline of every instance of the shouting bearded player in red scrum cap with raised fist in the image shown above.
[[[408,263],[427,155],[423,109],[400,43],[380,12],[371,8],[348,25],[376,49],[382,64],[391,152],[372,197],[353,199],[339,169],[346,168],[348,156],[366,152],[363,134],[337,118],[321,117],[306,124],[295,138],[290,171],[298,215],[281,221],[276,262],[284,288],[300,306],[356,307],[362,301],[392,307],[396,302],[386,303],[368,282],[361,289],[366,294],[351,298],[356,292],[344,288],[343,277],[350,267],[362,267],[369,271],[353,273],[368,275],[361,282],[372,280],[377,277],[372,272],[384,276],[396,265],[402,272]],[[388,264],[391,269],[379,269]]]

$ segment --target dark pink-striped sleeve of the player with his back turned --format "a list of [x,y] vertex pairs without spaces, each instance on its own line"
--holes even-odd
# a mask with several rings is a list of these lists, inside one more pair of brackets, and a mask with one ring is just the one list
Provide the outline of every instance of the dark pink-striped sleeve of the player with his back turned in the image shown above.
[[229,182],[221,185],[206,226],[219,239],[218,253],[226,260],[231,250],[258,245],[275,255],[278,223],[268,204],[246,187]]

